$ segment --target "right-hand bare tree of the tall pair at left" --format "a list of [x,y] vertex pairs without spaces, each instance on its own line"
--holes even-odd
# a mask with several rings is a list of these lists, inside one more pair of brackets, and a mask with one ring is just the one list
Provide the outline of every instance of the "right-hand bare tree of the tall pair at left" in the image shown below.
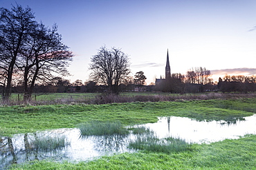
[[56,74],[68,75],[66,66],[73,56],[62,43],[57,25],[49,29],[42,23],[28,36],[19,54],[16,65],[24,79],[25,101],[30,100],[35,83],[51,83]]

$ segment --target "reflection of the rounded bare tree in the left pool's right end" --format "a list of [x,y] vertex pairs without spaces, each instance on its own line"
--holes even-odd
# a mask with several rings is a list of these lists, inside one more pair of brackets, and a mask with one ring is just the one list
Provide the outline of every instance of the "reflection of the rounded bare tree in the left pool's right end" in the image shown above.
[[128,143],[127,135],[94,136],[94,139],[95,149],[99,151],[123,151]]

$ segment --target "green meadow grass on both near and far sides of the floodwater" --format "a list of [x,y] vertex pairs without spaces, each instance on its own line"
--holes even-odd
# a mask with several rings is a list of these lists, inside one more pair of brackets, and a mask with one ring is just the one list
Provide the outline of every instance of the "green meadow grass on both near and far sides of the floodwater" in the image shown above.
[[[255,103],[255,97],[236,97],[104,105],[71,103],[1,106],[0,135],[12,136],[46,129],[73,128],[91,121],[138,125],[155,123],[162,116],[229,121],[255,114]],[[12,169],[254,169],[255,143],[256,136],[248,135],[210,145],[193,144],[189,150],[173,153],[138,151],[104,156],[89,162],[41,160],[14,165]]]

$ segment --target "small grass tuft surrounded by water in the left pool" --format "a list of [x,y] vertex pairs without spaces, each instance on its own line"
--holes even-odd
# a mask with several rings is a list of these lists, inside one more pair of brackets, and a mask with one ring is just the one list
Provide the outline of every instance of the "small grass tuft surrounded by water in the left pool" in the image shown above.
[[57,151],[70,145],[65,136],[37,136],[33,141],[39,151]]

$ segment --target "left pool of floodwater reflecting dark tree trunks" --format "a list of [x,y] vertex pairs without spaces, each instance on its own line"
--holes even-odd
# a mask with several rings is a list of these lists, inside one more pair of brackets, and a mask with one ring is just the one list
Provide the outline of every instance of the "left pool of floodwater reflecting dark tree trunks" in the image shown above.
[[[65,136],[68,145],[54,151],[42,151],[32,148],[35,136]],[[10,164],[20,164],[29,160],[43,160],[46,158],[55,161],[71,160],[93,160],[99,156],[107,156],[113,153],[131,152],[128,149],[128,141],[131,134],[127,136],[87,136],[80,137],[79,129],[54,129],[53,131],[42,131],[37,134],[17,134],[13,138],[0,139],[0,169]],[[30,145],[26,147],[25,144]]]

